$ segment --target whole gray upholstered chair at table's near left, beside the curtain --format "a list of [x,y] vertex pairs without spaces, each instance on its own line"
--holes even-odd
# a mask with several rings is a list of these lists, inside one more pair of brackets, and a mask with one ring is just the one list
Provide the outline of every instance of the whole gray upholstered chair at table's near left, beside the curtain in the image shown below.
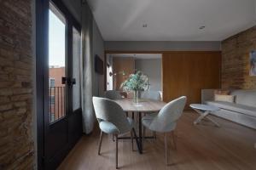
[[133,120],[125,116],[123,109],[114,101],[105,98],[92,98],[96,119],[101,129],[98,155],[101,154],[102,133],[113,134],[116,141],[116,168],[118,168],[118,135],[131,133],[131,144],[133,150],[133,134],[137,139]]

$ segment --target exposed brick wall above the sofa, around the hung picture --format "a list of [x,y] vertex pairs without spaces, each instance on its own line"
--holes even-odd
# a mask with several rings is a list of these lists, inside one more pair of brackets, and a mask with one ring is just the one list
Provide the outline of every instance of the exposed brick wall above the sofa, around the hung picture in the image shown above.
[[256,49],[256,26],[222,42],[222,88],[256,88],[249,76],[249,54]]

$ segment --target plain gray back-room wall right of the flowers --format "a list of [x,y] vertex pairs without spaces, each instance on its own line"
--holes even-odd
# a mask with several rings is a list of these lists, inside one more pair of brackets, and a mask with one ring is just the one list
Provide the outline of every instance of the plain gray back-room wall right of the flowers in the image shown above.
[[136,59],[135,68],[148,76],[150,90],[161,91],[161,59]]

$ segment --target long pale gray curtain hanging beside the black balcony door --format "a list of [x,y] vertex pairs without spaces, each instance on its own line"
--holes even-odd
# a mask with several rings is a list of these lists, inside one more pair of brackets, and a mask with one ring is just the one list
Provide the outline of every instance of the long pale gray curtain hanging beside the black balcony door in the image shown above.
[[93,16],[88,4],[84,1],[82,3],[82,109],[84,133],[92,132],[96,120],[92,105],[92,26]]

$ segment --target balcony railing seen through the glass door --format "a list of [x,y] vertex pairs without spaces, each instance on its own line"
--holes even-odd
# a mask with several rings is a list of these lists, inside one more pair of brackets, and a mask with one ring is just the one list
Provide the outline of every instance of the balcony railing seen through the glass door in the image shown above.
[[65,87],[49,87],[49,122],[55,122],[66,115]]

